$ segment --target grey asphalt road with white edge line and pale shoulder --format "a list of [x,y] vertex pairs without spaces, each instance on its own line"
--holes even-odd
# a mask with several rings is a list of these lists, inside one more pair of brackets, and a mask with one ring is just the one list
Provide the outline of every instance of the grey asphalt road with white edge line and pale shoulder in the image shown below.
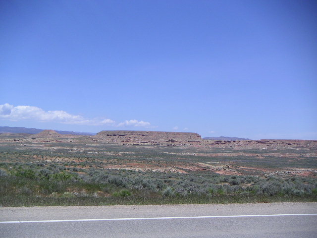
[[317,203],[0,208],[0,237],[316,238]]

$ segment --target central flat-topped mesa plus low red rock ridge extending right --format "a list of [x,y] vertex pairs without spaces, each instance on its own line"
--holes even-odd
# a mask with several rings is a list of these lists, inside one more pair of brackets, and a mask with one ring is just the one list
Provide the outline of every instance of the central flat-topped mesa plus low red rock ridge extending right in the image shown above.
[[121,145],[203,146],[232,149],[282,149],[317,147],[316,140],[204,140],[197,133],[103,130],[91,139]]

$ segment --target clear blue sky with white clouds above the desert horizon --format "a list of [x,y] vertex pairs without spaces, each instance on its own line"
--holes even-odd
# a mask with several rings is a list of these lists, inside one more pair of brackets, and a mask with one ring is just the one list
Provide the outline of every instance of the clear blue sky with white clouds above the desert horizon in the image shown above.
[[0,0],[0,126],[317,139],[317,1]]

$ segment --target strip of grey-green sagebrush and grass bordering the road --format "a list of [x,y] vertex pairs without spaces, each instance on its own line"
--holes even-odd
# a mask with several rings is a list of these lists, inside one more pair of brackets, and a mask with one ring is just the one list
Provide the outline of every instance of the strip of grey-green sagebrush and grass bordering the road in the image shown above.
[[0,206],[317,201],[312,178],[259,178],[0,163]]

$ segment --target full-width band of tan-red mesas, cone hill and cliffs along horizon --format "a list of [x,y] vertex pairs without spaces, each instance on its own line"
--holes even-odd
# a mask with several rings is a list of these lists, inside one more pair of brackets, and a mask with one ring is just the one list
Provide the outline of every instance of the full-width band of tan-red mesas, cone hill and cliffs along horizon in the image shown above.
[[[59,134],[54,130],[43,130],[38,134],[0,133],[0,143],[86,143],[87,145],[153,145],[153,146],[194,146],[222,149],[283,149],[296,150],[317,148],[317,140],[206,140],[197,133],[103,130],[94,136]],[[252,154],[252,153],[251,153]]]

